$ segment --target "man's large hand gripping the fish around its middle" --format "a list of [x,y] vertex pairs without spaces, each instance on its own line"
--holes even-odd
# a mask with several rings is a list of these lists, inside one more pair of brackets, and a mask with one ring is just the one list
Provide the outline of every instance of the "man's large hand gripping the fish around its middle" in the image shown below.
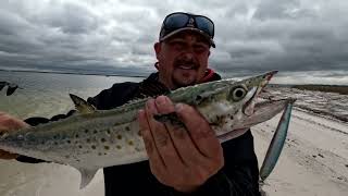
[[[154,114],[176,112],[185,127],[160,123]],[[179,192],[192,192],[223,166],[223,150],[203,117],[187,105],[165,96],[147,102],[139,111],[139,125],[151,172],[163,184]]]

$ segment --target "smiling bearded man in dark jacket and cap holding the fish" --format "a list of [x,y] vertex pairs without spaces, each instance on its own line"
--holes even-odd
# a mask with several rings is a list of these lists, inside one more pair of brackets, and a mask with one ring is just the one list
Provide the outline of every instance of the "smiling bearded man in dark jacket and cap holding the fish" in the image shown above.
[[[154,44],[158,72],[141,83],[114,84],[88,98],[88,102],[98,109],[112,109],[135,98],[156,97],[178,87],[220,79],[220,75],[208,68],[210,48],[215,47],[213,37],[214,24],[206,16],[183,12],[167,15],[159,41]],[[176,112],[186,128],[153,119],[156,113],[169,112]],[[25,122],[37,125],[72,113],[50,120],[30,118]],[[2,115],[2,120],[7,118],[11,119]],[[258,161],[250,131],[221,145],[197,110],[182,103],[173,105],[165,96],[150,99],[139,111],[138,120],[149,161],[104,168],[107,196],[138,192],[151,195],[260,195]],[[1,122],[0,115],[2,130],[23,125],[21,121],[10,121],[12,123]],[[16,160],[40,162],[23,156]]]

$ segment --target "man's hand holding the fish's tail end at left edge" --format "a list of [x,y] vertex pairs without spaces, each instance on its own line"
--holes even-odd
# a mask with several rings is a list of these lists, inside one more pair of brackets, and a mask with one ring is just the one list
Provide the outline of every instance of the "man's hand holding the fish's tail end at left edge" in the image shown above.
[[[20,119],[15,119],[0,111],[0,132],[11,132],[21,127],[26,127],[28,124]],[[18,155],[11,154],[0,149],[0,159],[15,159]]]

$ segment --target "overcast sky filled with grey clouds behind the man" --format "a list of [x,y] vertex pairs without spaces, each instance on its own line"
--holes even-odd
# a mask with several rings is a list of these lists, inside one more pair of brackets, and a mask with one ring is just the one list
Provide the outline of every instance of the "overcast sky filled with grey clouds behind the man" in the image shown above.
[[347,0],[1,0],[0,68],[154,71],[153,42],[174,11],[214,21],[210,66],[224,75],[279,70],[348,84]]

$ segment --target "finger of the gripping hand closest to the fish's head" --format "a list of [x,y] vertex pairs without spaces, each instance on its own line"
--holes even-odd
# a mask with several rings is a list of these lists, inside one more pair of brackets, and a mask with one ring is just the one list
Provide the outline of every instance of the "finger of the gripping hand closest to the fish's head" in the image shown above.
[[216,157],[216,152],[222,152],[215,133],[198,111],[184,103],[178,103],[175,108],[177,114],[186,124],[192,140],[206,157]]

